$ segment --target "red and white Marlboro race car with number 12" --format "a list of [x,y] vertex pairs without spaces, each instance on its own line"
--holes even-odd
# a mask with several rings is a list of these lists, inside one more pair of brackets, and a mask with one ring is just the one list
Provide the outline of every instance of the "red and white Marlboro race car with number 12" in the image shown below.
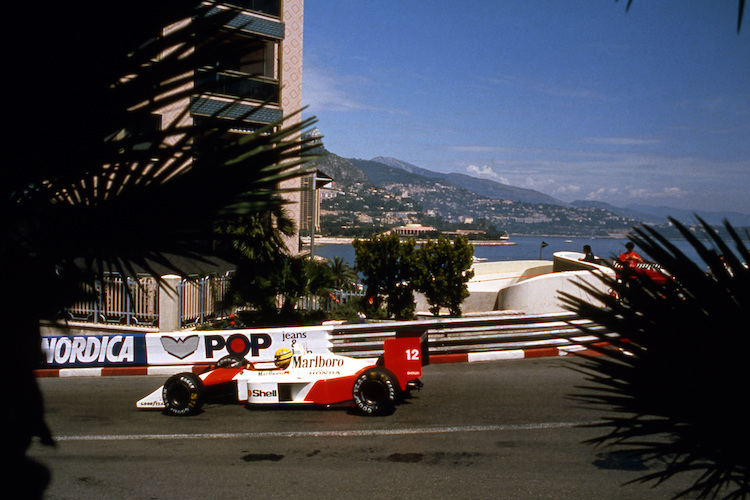
[[429,362],[426,346],[426,335],[386,339],[383,356],[375,364],[286,348],[279,349],[268,362],[225,356],[199,375],[185,372],[171,376],[136,407],[192,415],[212,401],[259,405],[353,402],[365,415],[387,414],[409,391],[422,386],[422,366]]

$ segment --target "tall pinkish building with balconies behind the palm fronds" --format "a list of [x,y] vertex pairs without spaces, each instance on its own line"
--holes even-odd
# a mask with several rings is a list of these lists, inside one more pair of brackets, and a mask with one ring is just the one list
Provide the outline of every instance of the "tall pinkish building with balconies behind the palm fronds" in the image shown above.
[[[298,123],[301,117],[296,112],[302,107],[304,0],[231,0],[216,2],[215,8],[237,9],[226,25],[233,28],[233,37],[241,38],[238,41],[246,47],[245,53],[220,57],[215,67],[197,71],[194,81],[210,79],[211,92],[162,110],[161,126],[167,127],[181,116],[180,119],[188,121],[213,117],[240,96],[239,102],[219,115],[227,119],[247,115],[243,120],[245,125],[234,129],[234,133],[251,133],[285,117],[288,118],[284,125]],[[178,29],[180,25],[177,23],[165,31]],[[186,106],[189,115],[182,114]],[[301,179],[291,179],[280,187],[294,190],[285,194],[289,201],[286,210],[299,228]],[[292,254],[299,253],[297,235],[288,238],[286,244]]]

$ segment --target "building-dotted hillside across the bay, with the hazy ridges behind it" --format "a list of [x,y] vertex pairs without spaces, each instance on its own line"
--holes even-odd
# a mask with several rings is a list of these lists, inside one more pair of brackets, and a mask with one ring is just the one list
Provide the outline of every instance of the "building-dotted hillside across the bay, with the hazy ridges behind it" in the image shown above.
[[[314,162],[334,179],[321,202],[329,234],[382,231],[407,223],[441,230],[470,228],[493,234],[586,235],[618,237],[639,223],[663,226],[671,215],[692,225],[692,212],[659,207],[616,207],[596,201],[566,204],[552,196],[465,174],[439,173],[395,158],[343,158],[322,145]],[[712,224],[729,218],[750,226],[750,216],[701,214]]]

